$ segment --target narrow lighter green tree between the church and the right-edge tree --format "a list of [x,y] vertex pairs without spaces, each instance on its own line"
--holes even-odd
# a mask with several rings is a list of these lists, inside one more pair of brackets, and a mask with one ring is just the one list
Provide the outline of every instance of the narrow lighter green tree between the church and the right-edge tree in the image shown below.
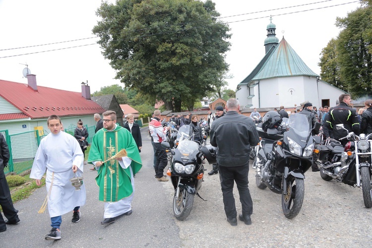
[[341,80],[340,65],[337,61],[336,40],[331,39],[327,46],[320,53],[320,78],[321,80],[330,83],[339,89],[346,90],[345,85]]

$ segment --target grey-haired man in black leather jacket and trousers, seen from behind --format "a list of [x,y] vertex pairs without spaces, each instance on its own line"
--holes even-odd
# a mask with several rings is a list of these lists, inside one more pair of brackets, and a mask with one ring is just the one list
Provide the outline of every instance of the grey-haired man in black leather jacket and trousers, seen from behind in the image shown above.
[[252,198],[248,189],[250,144],[257,144],[259,136],[251,118],[239,114],[239,101],[229,99],[224,118],[216,119],[210,131],[210,143],[217,147],[221,189],[227,221],[237,225],[237,210],[233,195],[234,181],[237,184],[242,214],[239,220],[250,225],[253,210]]

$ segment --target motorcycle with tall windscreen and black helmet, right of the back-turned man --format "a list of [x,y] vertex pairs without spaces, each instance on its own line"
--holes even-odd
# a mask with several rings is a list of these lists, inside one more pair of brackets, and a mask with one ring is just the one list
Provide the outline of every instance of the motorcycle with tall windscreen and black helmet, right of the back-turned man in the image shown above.
[[[256,186],[282,194],[283,213],[292,219],[301,210],[305,194],[304,174],[313,160],[315,142],[311,136],[311,120],[302,114],[281,119],[276,111],[266,115],[263,123],[256,127],[261,137],[254,161]],[[319,128],[320,125],[314,127],[315,130]]]

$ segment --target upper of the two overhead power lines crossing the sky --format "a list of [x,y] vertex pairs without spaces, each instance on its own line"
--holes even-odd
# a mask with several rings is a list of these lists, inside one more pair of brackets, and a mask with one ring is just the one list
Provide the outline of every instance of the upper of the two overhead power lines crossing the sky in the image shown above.
[[[280,9],[287,9],[287,8],[294,8],[294,7],[301,7],[301,6],[306,6],[306,5],[311,5],[311,4],[317,4],[317,3],[322,3],[322,2],[328,2],[328,1],[333,1],[333,0],[323,0],[323,1],[318,1],[318,2],[310,2],[310,3],[304,3],[300,5],[294,5],[294,6],[288,6],[288,7],[281,7],[281,8],[274,8],[274,9],[269,9],[269,10],[260,10],[260,11],[255,11],[255,12],[249,12],[249,13],[244,13],[244,14],[237,14],[237,15],[230,15],[230,16],[224,16],[224,17],[217,17],[216,19],[223,19],[223,18],[229,18],[229,17],[236,17],[236,16],[242,16],[242,15],[249,15],[249,14],[256,14],[256,13],[263,13],[263,12],[268,12],[268,11],[274,11],[274,10],[280,10]],[[357,1],[353,1],[357,2]],[[353,3],[350,2],[350,3]],[[346,3],[347,4],[347,3]],[[338,5],[334,5],[338,6]],[[266,17],[266,16],[265,16]],[[263,17],[264,18],[264,17]],[[179,24],[170,24],[170,25],[163,25],[163,26],[158,26],[157,28],[164,28],[164,27],[170,27],[170,26],[179,26],[179,25],[186,25],[186,24],[191,24],[191,23],[197,23],[201,21],[194,21],[194,22],[184,22],[184,23],[179,23]],[[232,22],[228,22],[232,23]],[[131,32],[138,32],[138,31],[145,31],[145,30],[150,30],[152,27],[146,27],[142,29],[136,29]],[[80,41],[80,40],[86,40],[86,39],[94,39],[98,38],[98,36],[95,37],[89,37],[89,38],[82,38],[82,39],[75,39],[75,40],[69,40],[69,41],[61,41],[61,42],[54,42],[54,43],[47,43],[47,44],[41,44],[41,45],[33,45],[33,46],[25,46],[25,47],[18,47],[18,48],[8,48],[8,49],[0,49],[0,51],[8,51],[8,50],[15,50],[15,49],[23,49],[23,48],[31,48],[31,47],[40,47],[40,46],[48,46],[48,45],[55,45],[55,44],[61,44],[61,43],[67,43],[67,42],[74,42],[74,41]]]

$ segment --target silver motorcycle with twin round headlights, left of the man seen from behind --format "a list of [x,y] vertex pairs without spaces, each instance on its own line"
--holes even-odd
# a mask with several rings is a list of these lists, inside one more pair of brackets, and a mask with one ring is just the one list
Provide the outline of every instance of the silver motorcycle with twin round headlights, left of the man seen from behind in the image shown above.
[[[170,149],[166,141],[162,142],[162,146]],[[215,163],[216,150],[211,145],[200,146],[193,141],[192,127],[183,125],[178,131],[178,146],[174,150],[170,149],[170,152],[173,157],[167,175],[175,189],[173,213],[176,219],[185,220],[191,212],[195,194],[200,197],[198,191],[204,176],[202,157],[209,163]]]

